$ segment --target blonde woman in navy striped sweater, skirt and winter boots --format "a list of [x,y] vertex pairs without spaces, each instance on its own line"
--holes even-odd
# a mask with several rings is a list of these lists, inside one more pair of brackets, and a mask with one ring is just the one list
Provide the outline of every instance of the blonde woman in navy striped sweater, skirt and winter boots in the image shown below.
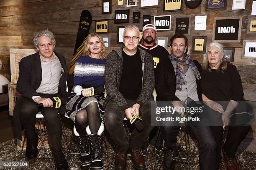
[[80,164],[90,169],[103,170],[101,135],[104,125],[98,100],[90,97],[90,87],[104,86],[106,50],[102,37],[89,34],[84,42],[83,56],[74,68],[73,92],[66,105],[67,115],[74,121],[74,132],[79,138]]

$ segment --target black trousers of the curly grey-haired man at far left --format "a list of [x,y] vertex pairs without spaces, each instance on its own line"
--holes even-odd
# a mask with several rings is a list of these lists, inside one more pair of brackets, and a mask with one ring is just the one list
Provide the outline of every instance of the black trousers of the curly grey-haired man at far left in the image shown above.
[[[56,97],[56,94],[40,94],[42,98]],[[37,106],[37,103],[26,97],[20,99],[20,122],[25,129],[26,136],[28,139],[33,138],[36,114],[41,112],[46,120],[47,133],[50,137],[52,147],[54,151],[61,149],[61,120],[59,117],[59,109],[54,107],[43,107]]]

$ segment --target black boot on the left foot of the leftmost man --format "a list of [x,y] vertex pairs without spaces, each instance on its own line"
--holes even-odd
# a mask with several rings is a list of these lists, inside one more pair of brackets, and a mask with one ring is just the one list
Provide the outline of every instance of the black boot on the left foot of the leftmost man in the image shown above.
[[27,138],[26,157],[28,159],[35,158],[38,154],[37,149],[38,136],[35,132],[32,139]]

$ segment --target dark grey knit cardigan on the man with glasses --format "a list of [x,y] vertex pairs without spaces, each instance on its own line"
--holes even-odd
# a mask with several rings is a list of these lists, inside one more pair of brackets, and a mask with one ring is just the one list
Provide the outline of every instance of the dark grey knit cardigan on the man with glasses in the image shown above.
[[[121,92],[119,91],[119,85],[122,75],[123,67],[123,57],[122,57],[123,47],[113,50],[108,54],[107,63],[105,65],[105,88],[107,91],[107,97],[103,103],[103,107],[106,108],[109,100],[112,100],[118,104],[122,110],[132,107],[125,100]],[[141,106],[152,96],[155,85],[154,77],[154,61],[152,56],[137,47],[141,55],[143,77],[142,77],[142,90],[138,96],[136,103]]]

